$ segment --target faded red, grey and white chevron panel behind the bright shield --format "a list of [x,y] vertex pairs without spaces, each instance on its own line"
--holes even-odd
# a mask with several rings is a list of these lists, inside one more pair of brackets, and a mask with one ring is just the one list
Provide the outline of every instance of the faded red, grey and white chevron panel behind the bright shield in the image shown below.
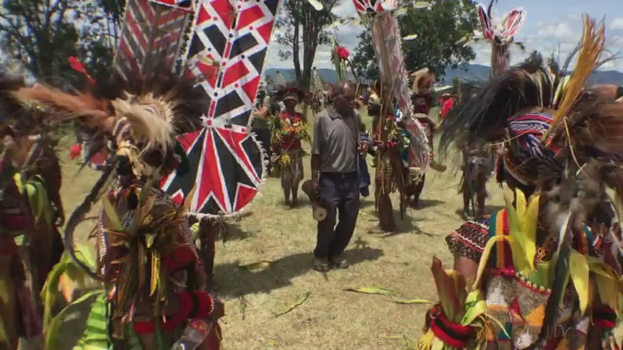
[[128,0],[121,39],[113,65],[128,78],[140,72],[145,59],[160,50],[167,50],[173,69],[182,39],[188,9],[171,7],[150,0]]

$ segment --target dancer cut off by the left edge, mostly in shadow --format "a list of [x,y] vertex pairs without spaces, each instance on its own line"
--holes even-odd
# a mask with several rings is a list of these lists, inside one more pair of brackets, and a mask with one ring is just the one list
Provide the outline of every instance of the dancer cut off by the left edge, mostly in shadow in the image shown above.
[[26,85],[0,74],[0,348],[42,331],[40,290],[64,250],[61,172],[46,111],[22,106],[12,93]]

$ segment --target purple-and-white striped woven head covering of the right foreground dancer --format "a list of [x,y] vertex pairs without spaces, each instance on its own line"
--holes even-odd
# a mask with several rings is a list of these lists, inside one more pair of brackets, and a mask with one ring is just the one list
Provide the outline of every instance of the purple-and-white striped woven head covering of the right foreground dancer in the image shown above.
[[541,164],[557,173],[563,170],[553,151],[543,148],[541,143],[551,121],[551,115],[546,113],[528,113],[508,121],[509,141],[502,160],[506,171],[523,185],[535,183]]

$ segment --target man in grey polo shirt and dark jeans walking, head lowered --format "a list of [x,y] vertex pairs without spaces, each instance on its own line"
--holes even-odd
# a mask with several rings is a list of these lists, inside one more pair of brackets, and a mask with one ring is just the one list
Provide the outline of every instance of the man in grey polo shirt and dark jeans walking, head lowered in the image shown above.
[[[340,82],[335,88],[333,108],[321,111],[314,121],[312,182],[327,210],[318,222],[314,257],[316,270],[326,272],[330,263],[346,268],[342,253],[353,237],[359,214],[358,153],[359,123],[354,110],[356,87]],[[336,219],[339,222],[336,225]]]

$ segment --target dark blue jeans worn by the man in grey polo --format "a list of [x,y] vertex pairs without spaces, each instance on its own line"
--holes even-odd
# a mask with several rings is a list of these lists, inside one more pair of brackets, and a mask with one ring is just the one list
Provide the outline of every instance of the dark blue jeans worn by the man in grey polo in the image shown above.
[[359,215],[359,179],[356,171],[321,173],[318,182],[320,202],[327,213],[318,222],[313,253],[317,258],[330,258],[344,252],[353,237]]

